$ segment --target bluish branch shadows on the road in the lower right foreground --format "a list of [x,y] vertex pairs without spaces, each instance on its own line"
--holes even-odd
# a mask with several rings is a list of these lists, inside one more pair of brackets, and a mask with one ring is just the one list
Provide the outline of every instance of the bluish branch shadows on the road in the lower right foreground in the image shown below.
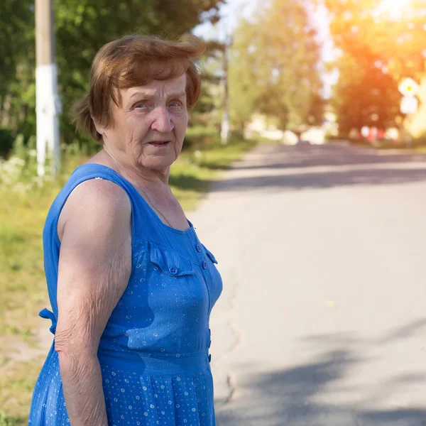
[[[245,376],[244,383],[238,383],[238,387],[248,390],[250,398],[245,399],[242,394],[235,405],[231,402],[220,408],[218,425],[426,426],[424,406],[366,409],[383,407],[381,403],[392,396],[395,389],[408,389],[413,383],[425,381],[425,375],[393,376],[390,371],[385,383],[353,387],[342,380],[349,370],[356,371],[363,362],[369,361],[365,350],[368,346],[412,337],[424,332],[425,327],[426,319],[421,319],[390,330],[383,339],[373,340],[344,333],[304,337],[300,341],[312,344],[311,349],[320,349],[322,355],[312,363],[295,368]],[[330,400],[333,403],[329,403]]]

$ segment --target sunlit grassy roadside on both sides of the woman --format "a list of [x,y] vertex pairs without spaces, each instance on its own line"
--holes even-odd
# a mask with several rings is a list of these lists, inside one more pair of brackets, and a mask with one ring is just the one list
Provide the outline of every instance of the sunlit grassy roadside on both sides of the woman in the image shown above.
[[[253,141],[233,141],[228,146],[182,153],[170,174],[170,186],[182,207],[194,209],[222,170],[255,145]],[[57,183],[23,194],[0,185],[0,426],[28,422],[33,386],[45,355],[13,363],[11,359],[14,348],[30,351],[37,347],[41,321],[37,314],[48,299],[41,241],[45,216],[70,172],[84,160],[81,155],[68,157]]]

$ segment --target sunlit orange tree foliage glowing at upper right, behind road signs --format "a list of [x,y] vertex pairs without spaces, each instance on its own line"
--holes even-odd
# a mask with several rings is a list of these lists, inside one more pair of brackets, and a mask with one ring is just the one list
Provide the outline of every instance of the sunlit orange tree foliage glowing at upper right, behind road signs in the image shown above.
[[398,83],[425,72],[425,2],[411,0],[401,9],[381,0],[325,4],[334,43],[342,50],[334,90],[340,129],[393,126],[400,116]]

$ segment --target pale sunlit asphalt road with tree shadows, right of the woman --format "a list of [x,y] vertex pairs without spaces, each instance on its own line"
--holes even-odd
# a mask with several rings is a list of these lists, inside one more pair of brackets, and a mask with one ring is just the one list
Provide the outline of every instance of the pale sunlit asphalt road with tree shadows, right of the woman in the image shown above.
[[188,216],[218,426],[426,425],[426,156],[259,146]]

